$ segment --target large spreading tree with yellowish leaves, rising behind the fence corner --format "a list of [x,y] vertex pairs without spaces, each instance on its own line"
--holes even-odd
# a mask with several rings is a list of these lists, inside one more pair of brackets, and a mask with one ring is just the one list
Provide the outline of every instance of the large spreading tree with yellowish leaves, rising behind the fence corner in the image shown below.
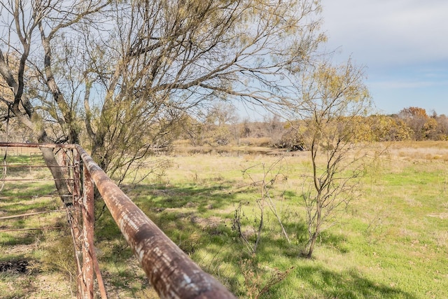
[[[279,76],[305,64],[323,41],[316,34],[318,20],[304,20],[319,9],[313,1],[143,1],[113,9],[118,39],[91,41],[107,60],[101,63],[106,69],[95,71],[101,74],[97,85],[106,95],[104,104],[97,125],[87,124],[97,127],[89,134],[92,153],[105,169],[121,144],[116,132],[125,129],[116,120],[131,112],[123,108],[136,107],[128,119],[146,118],[143,123],[155,129],[151,139],[158,139],[183,115],[179,111],[192,113],[209,99],[279,104],[287,88]],[[160,125],[161,120],[167,125]],[[151,144],[153,140],[136,149]]]

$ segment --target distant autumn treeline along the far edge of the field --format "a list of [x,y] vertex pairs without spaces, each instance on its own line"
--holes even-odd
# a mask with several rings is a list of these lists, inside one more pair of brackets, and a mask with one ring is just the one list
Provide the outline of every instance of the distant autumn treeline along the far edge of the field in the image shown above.
[[[178,139],[193,146],[273,146],[299,150],[306,147],[306,120],[284,121],[278,116],[262,121],[239,121],[235,109],[218,105],[203,121],[187,117]],[[425,109],[409,107],[397,114],[358,116],[351,130],[365,141],[448,140],[448,116],[431,115]]]

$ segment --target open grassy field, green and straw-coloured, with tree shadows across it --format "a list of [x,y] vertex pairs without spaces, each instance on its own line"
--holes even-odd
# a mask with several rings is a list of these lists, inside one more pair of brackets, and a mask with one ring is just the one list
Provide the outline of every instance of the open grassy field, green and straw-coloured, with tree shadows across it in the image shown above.
[[[123,190],[240,298],[255,298],[263,288],[260,298],[448,298],[448,142],[378,144],[377,149],[386,146],[366,173],[363,195],[351,202],[337,225],[323,232],[311,260],[300,258],[307,237],[300,198],[301,175],[309,172],[307,152],[286,153],[280,161],[280,155],[260,151],[178,152],[168,157],[172,167],[165,174]],[[272,172],[263,176],[263,169],[266,173],[274,163]],[[272,189],[272,207],[290,242],[266,208],[260,245],[253,254],[239,237],[236,220],[253,244],[260,219],[260,190],[253,183],[274,174],[280,175]],[[14,193],[7,187],[2,196]],[[2,200],[0,209],[24,213],[24,204]],[[58,206],[50,200],[30,207],[43,209],[40,204]],[[48,225],[64,223],[64,216],[52,219]],[[39,224],[24,221],[8,222],[8,227]],[[26,221],[47,223],[43,218]],[[57,259],[50,263],[49,258],[70,257],[66,234],[68,230],[0,232],[0,261],[34,265],[25,273],[1,272],[0,297],[70,298],[76,290],[70,265]],[[155,296],[107,212],[97,221],[96,246],[111,298]],[[49,295],[46,288],[60,293]]]

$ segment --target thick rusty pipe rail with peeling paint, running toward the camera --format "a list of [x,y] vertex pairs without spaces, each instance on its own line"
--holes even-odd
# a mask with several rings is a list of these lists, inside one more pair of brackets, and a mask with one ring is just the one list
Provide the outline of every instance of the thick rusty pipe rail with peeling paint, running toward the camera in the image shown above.
[[77,145],[76,150],[160,298],[235,298],[179,249],[83,148]]

